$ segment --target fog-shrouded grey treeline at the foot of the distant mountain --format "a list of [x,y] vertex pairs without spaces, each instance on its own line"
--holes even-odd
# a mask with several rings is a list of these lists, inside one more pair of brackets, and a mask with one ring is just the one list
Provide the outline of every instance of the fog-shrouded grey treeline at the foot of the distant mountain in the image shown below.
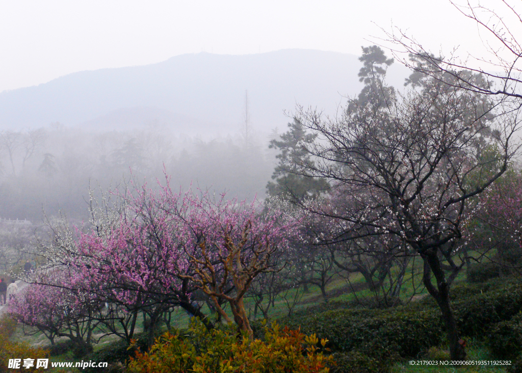
[[167,126],[87,132],[53,123],[45,128],[0,132],[0,218],[41,221],[43,211],[86,218],[89,186],[122,188],[132,179],[149,186],[172,176],[171,186],[228,190],[240,199],[264,197],[277,151],[277,136],[240,134],[203,140]]

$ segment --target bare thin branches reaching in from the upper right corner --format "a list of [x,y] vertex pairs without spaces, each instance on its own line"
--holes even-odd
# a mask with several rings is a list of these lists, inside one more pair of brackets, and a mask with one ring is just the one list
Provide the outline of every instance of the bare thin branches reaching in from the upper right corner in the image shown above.
[[[465,5],[451,3],[462,15],[475,21],[479,31],[485,31],[483,44],[491,58],[468,56],[485,67],[473,68],[468,59],[462,61],[456,55],[456,50],[448,57],[435,56],[421,42],[398,27],[391,31],[383,29],[387,41],[398,46],[398,49],[392,49],[394,57],[423,75],[437,78],[441,73],[449,74],[453,77],[451,82],[455,87],[493,97],[512,98],[522,104],[522,45],[515,32],[522,25],[519,11],[507,0],[498,0],[499,7],[495,10],[480,5],[478,1],[467,0]],[[417,58],[412,61],[408,55]],[[477,74],[484,76],[487,84],[477,81]]]

